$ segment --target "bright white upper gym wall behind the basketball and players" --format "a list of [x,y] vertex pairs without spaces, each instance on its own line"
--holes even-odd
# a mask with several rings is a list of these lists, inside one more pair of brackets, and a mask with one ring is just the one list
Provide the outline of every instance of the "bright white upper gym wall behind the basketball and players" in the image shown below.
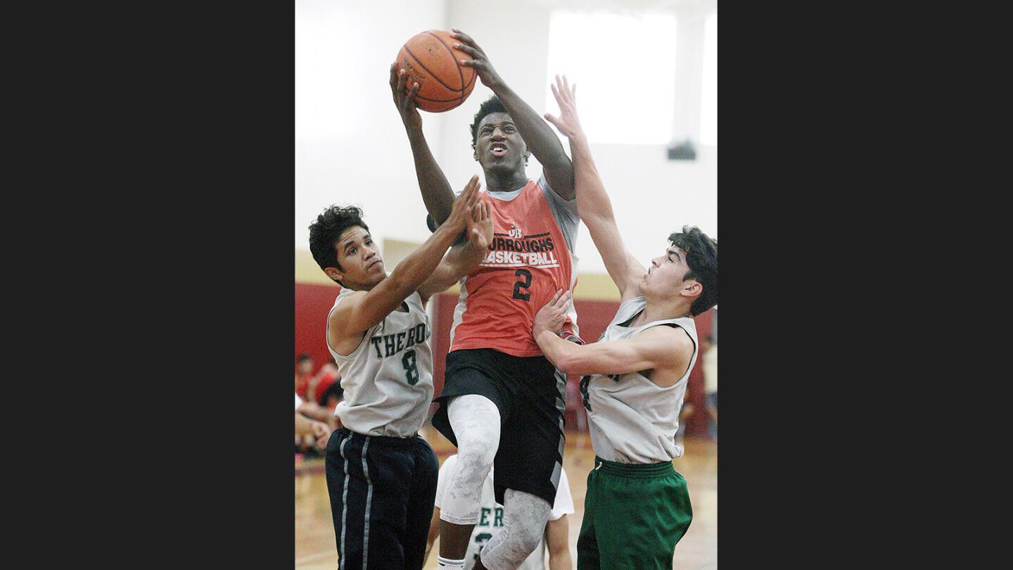
[[[669,232],[683,224],[698,225],[716,237],[717,146],[701,140],[702,133],[710,142],[716,139],[710,128],[713,121],[701,121],[708,113],[711,118],[716,113],[712,104],[709,109],[706,101],[701,104],[701,94],[716,85],[712,77],[710,84],[704,84],[705,22],[716,9],[716,0],[297,0],[295,247],[309,248],[307,227],[330,204],[363,207],[366,222],[380,243],[424,240],[430,234],[425,209],[408,140],[390,94],[390,63],[414,33],[458,27],[475,39],[496,71],[529,104],[539,113],[556,114],[554,103],[546,105],[550,74],[573,75],[575,71],[548,69],[553,10],[675,15],[675,53],[643,53],[637,38],[591,34],[599,46],[615,45],[627,65],[644,63],[648,69],[674,77],[671,106],[647,114],[667,118],[671,140],[615,144],[594,142],[595,132],[589,136],[619,227],[634,256],[647,263],[667,246]],[[583,63],[580,67],[587,68]],[[586,78],[590,74],[587,69],[578,71]],[[628,70],[610,64],[595,68],[595,75],[587,81],[574,78],[580,85],[577,105],[587,128],[592,113],[624,116],[631,115],[629,110],[644,108],[637,98],[643,87],[629,84],[624,75]],[[611,76],[628,85],[628,95],[586,109],[582,103],[595,98],[589,94],[594,91],[588,82]],[[422,113],[426,139],[455,191],[471,174],[481,175],[472,158],[468,127],[490,94],[479,83],[461,106],[442,114]],[[696,147],[696,160],[669,160],[670,142],[686,139]],[[528,174],[538,177],[540,173],[541,166],[532,157]],[[604,273],[601,257],[582,225],[577,242],[580,272]]]

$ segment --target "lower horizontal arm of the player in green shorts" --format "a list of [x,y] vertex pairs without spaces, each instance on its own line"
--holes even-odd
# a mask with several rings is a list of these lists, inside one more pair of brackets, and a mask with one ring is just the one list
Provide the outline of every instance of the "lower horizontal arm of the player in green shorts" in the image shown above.
[[693,341],[672,327],[651,327],[632,339],[582,346],[539,329],[535,341],[560,372],[581,376],[669,369],[680,372],[679,377],[693,356]]

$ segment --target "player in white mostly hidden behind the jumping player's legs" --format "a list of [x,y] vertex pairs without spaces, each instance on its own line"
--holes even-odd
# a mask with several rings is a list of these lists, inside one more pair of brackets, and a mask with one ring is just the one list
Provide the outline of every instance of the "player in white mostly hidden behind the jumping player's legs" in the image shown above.
[[[425,545],[423,564],[425,560],[428,560],[433,544],[440,536],[440,505],[443,504],[447,481],[457,469],[457,454],[447,457],[443,467],[440,468],[436,505],[433,508],[433,521],[430,523],[430,536]],[[482,483],[481,510],[478,522],[475,524],[474,530],[471,531],[471,541],[468,543],[468,551],[464,557],[464,570],[471,570],[475,567],[479,551],[503,527],[503,506],[496,502],[492,488],[492,472],[493,470],[489,470],[489,475]],[[549,521],[545,524],[542,541],[538,543],[535,551],[517,567],[517,570],[573,569],[573,562],[569,554],[569,518],[566,516],[567,514],[573,514],[573,497],[570,495],[566,470],[562,470],[559,473],[559,490],[556,492],[552,510],[549,511]],[[549,550],[548,566],[545,565],[546,546]]]

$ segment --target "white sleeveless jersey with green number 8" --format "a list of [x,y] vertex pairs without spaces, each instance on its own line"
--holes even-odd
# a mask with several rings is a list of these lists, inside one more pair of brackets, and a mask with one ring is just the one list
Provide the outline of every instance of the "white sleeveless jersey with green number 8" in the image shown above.
[[[337,303],[352,293],[341,288],[328,320]],[[430,317],[417,291],[404,302],[408,312],[392,310],[366,331],[352,354],[338,354],[327,342],[344,389],[334,415],[356,433],[410,437],[425,421],[433,400]]]

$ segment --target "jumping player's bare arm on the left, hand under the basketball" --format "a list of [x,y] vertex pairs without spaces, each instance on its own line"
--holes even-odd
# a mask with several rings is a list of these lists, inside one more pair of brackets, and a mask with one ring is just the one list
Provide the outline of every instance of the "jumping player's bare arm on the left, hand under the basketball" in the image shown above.
[[411,144],[411,155],[415,160],[415,176],[418,179],[418,189],[422,193],[422,202],[437,225],[442,224],[449,216],[454,206],[454,192],[450,182],[444,174],[440,164],[433,157],[430,145],[422,134],[422,118],[415,108],[415,93],[418,83],[412,81],[406,91],[409,80],[407,72],[400,68],[397,62],[390,64],[390,90],[394,96],[394,104],[401,115],[404,130]]

